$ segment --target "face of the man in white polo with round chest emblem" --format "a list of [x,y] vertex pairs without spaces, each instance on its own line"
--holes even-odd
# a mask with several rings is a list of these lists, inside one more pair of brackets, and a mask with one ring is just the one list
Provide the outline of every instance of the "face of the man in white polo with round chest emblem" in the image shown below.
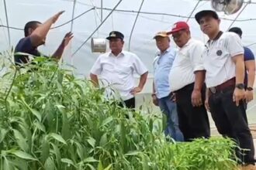
[[219,32],[220,19],[214,19],[211,15],[206,15],[199,20],[200,29],[207,36],[215,35]]

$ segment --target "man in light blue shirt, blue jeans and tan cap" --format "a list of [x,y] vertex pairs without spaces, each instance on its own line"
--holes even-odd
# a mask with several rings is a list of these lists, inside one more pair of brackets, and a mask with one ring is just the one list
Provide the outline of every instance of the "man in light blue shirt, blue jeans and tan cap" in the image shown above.
[[167,126],[164,134],[175,141],[183,141],[182,131],[178,128],[178,115],[175,101],[171,99],[173,93],[170,93],[168,76],[176,52],[170,47],[170,38],[167,32],[158,32],[154,39],[156,40],[159,53],[154,59],[154,83],[152,99],[156,106],[159,106],[162,113],[167,117]]

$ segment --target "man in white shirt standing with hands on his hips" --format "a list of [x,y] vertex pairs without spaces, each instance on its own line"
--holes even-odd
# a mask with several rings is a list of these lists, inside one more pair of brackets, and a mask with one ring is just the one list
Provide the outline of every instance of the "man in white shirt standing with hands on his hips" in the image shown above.
[[[92,66],[90,73],[95,86],[99,86],[98,76],[106,80],[119,92],[119,96],[128,108],[135,107],[136,93],[140,93],[147,80],[147,68],[140,58],[134,54],[123,50],[123,33],[112,31],[106,39],[109,39],[109,48],[111,52],[99,56]],[[140,75],[140,83],[137,87],[134,84],[133,73]],[[110,97],[115,94],[109,93]]]

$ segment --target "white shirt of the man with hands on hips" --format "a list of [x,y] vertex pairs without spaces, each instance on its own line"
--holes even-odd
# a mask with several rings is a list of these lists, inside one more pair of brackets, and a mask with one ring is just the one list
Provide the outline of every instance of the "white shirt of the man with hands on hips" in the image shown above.
[[[130,93],[135,87],[133,73],[141,76],[147,72],[147,68],[136,54],[122,51],[118,56],[111,52],[100,55],[90,72],[100,75],[104,86],[110,85],[119,91],[123,100],[129,100],[134,97]],[[108,96],[112,94],[111,90],[107,90]]]

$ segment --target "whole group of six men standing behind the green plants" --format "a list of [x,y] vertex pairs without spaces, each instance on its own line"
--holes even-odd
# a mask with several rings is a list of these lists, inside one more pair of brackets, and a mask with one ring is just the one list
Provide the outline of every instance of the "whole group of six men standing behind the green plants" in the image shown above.
[[[44,44],[50,26],[63,12],[59,12],[43,24],[28,22],[25,38],[16,46],[17,65],[29,63],[29,53],[42,56],[37,47]],[[254,168],[254,143],[248,127],[246,108],[253,100],[255,76],[254,55],[242,46],[242,30],[234,27],[229,32],[220,31],[220,18],[216,12],[203,10],[196,13],[195,20],[209,40],[206,44],[192,38],[186,22],[176,22],[170,32],[157,32],[154,36],[159,52],[155,57],[152,101],[167,117],[164,134],[175,141],[192,141],[209,138],[211,113],[216,128],[224,137],[233,138],[240,164],[246,169]],[[178,49],[171,48],[170,36]],[[53,57],[60,59],[64,47],[72,39],[68,32]],[[144,88],[147,67],[140,58],[123,50],[123,33],[112,31],[108,53],[99,56],[90,71],[91,80],[99,86],[101,80],[118,92],[122,107],[135,108],[135,95]],[[20,54],[22,53],[22,54]],[[134,83],[133,73],[140,75]],[[106,91],[111,97],[112,90]]]

